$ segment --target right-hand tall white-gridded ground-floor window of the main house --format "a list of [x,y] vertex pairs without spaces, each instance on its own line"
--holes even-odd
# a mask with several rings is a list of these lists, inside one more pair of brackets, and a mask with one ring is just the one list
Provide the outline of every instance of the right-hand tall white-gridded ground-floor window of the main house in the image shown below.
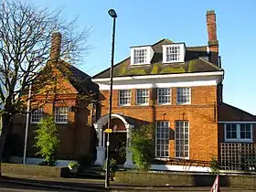
[[189,154],[189,133],[187,121],[176,121],[176,157],[187,158]]

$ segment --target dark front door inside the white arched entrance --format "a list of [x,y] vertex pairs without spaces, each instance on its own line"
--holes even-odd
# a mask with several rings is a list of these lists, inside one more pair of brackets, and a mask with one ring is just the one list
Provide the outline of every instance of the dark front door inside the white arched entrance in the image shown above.
[[[105,133],[105,146],[107,133]],[[110,159],[115,159],[117,165],[123,165],[126,161],[126,132],[110,133]]]

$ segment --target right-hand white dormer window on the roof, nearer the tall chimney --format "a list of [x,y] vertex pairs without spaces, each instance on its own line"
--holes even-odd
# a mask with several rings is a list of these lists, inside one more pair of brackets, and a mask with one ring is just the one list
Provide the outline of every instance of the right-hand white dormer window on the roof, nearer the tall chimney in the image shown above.
[[185,44],[172,44],[163,46],[163,63],[184,62]]

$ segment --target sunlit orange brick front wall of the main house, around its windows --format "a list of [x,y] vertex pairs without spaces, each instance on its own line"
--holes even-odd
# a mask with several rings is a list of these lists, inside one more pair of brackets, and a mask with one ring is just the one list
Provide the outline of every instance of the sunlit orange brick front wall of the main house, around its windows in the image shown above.
[[[189,157],[196,160],[211,160],[218,155],[217,87],[192,87],[191,104],[176,104],[176,88],[172,89],[172,103],[157,106],[156,89],[150,89],[148,106],[135,105],[135,90],[132,90],[131,106],[118,106],[118,91],[113,91],[112,112],[132,117],[138,123],[155,123],[166,120],[175,131],[176,120],[189,121]],[[108,113],[109,91],[101,91],[101,116]],[[170,139],[171,157],[175,155],[174,137]]]

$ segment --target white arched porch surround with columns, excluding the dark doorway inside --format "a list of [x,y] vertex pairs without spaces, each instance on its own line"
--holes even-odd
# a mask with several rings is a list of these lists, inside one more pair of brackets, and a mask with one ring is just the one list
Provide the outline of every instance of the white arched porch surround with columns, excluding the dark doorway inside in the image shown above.
[[[93,123],[97,133],[97,138],[99,141],[98,146],[96,147],[97,159],[95,161],[95,165],[104,165],[105,163],[106,147],[105,147],[104,127],[108,123],[108,118],[109,118],[109,114],[105,114],[101,116],[101,118],[96,123]],[[131,145],[132,129],[134,125],[130,123],[127,117],[124,117],[121,114],[112,113],[112,119],[120,119],[124,124],[125,133],[126,133],[126,159],[123,166],[127,168],[131,168],[133,167],[133,158],[132,158],[133,155],[130,152],[130,150],[128,150],[128,148]]]

